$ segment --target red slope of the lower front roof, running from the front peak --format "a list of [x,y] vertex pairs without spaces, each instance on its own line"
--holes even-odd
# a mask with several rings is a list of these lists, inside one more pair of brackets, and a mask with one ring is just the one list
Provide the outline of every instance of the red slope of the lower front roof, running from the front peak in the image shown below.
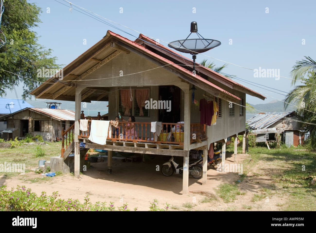
[[[164,61],[164,62],[170,64],[171,66],[173,66],[173,67],[175,67],[175,68],[177,68],[177,69],[179,69],[179,70],[182,70],[183,72],[185,72],[186,74],[190,75],[191,77],[193,77],[193,78],[195,78],[195,79],[198,79],[198,80],[200,80],[200,81],[206,83],[207,85],[210,85],[211,87],[214,87],[214,88],[216,88],[217,90],[219,90],[219,91],[221,91],[221,92],[223,92],[223,93],[226,93],[226,94],[228,94],[228,95],[234,97],[235,99],[240,100],[239,97],[233,95],[232,93],[229,93],[228,91],[224,90],[224,89],[221,88],[221,87],[218,87],[217,85],[215,85],[214,83],[211,83],[210,81],[207,81],[206,79],[202,78],[202,77],[199,76],[199,75],[193,75],[191,71],[189,71],[189,70],[187,70],[187,69],[185,69],[185,68],[183,68],[183,67],[181,67],[181,66],[179,66],[179,65],[177,65],[177,64],[174,64],[173,62],[171,62],[171,61],[168,60],[167,58],[161,57],[161,56],[159,56],[158,54],[156,54],[156,53],[150,51],[149,49],[146,49],[143,45],[137,44],[135,41],[132,41],[132,40],[130,40],[130,39],[127,39],[127,38],[125,38],[125,37],[123,37],[123,36],[121,36],[121,35],[119,35],[119,34],[117,34],[117,33],[113,33],[113,32],[111,32],[110,30],[108,30],[107,32],[110,33],[112,36],[115,36],[116,38],[119,38],[119,39],[121,39],[121,40],[123,40],[123,41],[129,43],[130,45],[132,45],[132,46],[134,46],[134,47],[137,47],[137,48],[141,49],[142,51],[144,51],[144,52],[146,52],[146,53],[148,53],[148,54],[150,54],[150,55],[152,55],[152,56],[154,56],[154,57],[160,59],[161,61]],[[216,73],[216,74],[218,75],[218,73]]]

